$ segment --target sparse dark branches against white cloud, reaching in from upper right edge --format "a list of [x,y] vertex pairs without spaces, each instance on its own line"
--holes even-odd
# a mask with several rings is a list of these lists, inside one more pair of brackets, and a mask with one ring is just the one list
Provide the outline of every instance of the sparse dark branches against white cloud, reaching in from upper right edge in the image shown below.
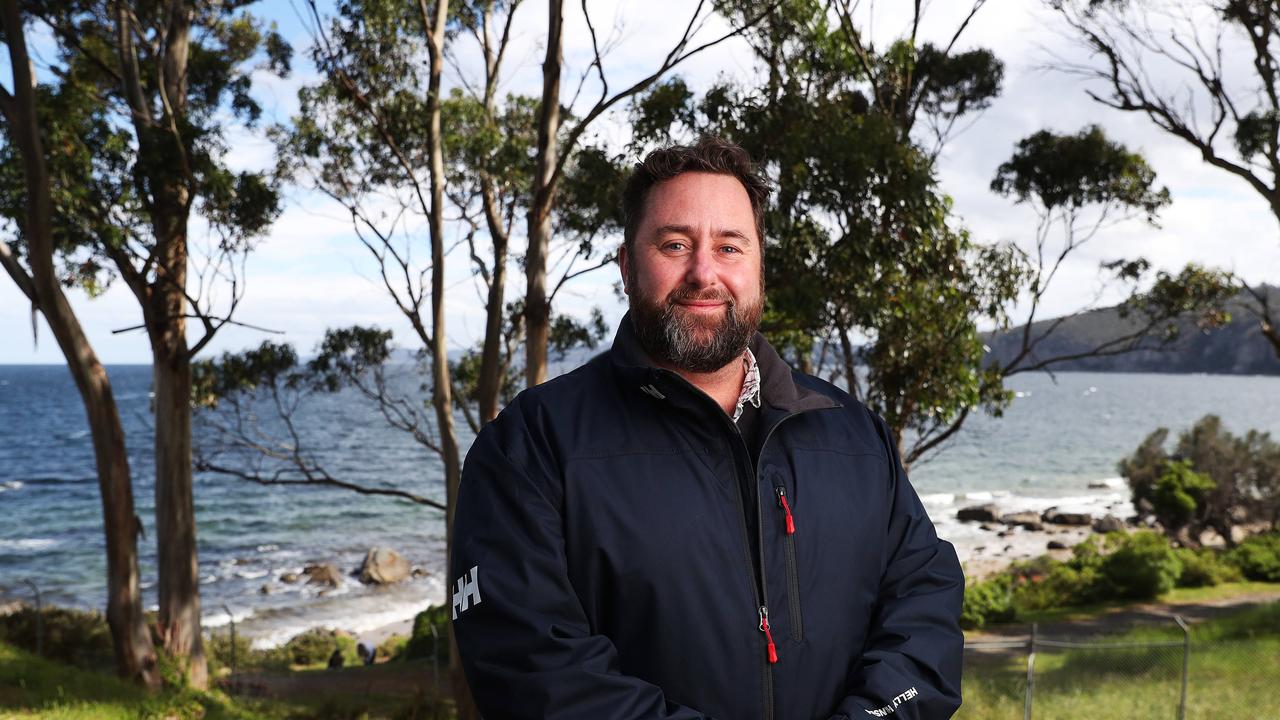
[[[1064,72],[1262,197],[1280,220],[1280,5],[1274,0],[1047,0],[1088,53]],[[1243,284],[1280,356],[1274,291]]]

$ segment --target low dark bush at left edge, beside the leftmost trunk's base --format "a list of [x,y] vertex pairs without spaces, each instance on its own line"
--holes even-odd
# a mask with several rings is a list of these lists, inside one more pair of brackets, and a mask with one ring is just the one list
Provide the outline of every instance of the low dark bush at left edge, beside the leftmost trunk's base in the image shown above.
[[[87,670],[110,669],[115,664],[111,630],[100,612],[45,607],[44,653],[49,660]],[[0,616],[0,641],[27,652],[36,652],[36,609]]]

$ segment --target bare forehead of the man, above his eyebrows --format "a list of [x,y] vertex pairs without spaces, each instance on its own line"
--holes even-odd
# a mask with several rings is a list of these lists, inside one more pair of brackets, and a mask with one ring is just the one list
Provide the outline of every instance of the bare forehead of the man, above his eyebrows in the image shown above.
[[681,173],[655,183],[645,201],[640,232],[666,225],[717,227],[755,237],[755,213],[736,177]]

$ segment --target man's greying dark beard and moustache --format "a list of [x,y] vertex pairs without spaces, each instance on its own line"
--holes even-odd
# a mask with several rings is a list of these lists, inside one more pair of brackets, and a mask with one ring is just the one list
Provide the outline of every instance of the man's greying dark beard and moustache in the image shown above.
[[[760,325],[764,292],[754,302],[739,305],[724,290],[699,291],[681,286],[657,301],[636,290],[631,293],[631,327],[640,345],[658,363],[690,373],[710,373],[746,352]],[[719,301],[719,316],[703,315],[681,301]]]

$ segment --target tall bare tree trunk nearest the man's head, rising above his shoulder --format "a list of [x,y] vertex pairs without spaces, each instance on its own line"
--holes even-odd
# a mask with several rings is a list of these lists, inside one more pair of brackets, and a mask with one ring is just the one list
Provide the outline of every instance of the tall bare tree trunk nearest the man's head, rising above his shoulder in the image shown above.
[[538,110],[538,164],[534,201],[529,208],[529,252],[525,255],[525,380],[529,387],[547,380],[547,341],[550,302],[547,299],[547,252],[556,204],[556,164],[559,156],[559,74],[563,60],[563,0],[548,3],[547,59],[543,61],[543,100]]

